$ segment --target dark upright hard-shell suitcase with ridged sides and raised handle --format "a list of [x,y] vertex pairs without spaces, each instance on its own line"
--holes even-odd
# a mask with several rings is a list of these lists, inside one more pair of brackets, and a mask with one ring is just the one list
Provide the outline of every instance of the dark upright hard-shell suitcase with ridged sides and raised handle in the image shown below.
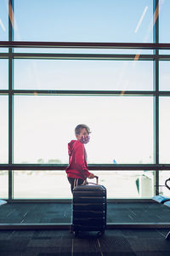
[[101,236],[106,227],[106,189],[98,184],[88,183],[73,189],[72,225],[75,236],[80,231],[99,231]]

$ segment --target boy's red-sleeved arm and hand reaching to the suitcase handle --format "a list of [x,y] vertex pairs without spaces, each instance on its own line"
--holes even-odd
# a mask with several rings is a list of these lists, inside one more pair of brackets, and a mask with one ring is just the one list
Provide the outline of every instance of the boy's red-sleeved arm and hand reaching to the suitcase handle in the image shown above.
[[77,167],[77,170],[79,172],[83,173],[84,177],[93,178],[94,174],[88,172],[88,168],[85,165],[84,154],[84,146],[82,144],[79,144],[75,152],[75,166]]

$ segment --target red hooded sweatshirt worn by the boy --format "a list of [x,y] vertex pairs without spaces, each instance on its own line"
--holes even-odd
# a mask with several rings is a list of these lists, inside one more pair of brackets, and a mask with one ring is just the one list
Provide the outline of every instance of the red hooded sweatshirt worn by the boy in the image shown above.
[[82,178],[83,180],[90,175],[88,172],[87,165],[87,153],[79,140],[72,140],[68,143],[69,150],[69,166],[66,168],[65,172],[67,177]]

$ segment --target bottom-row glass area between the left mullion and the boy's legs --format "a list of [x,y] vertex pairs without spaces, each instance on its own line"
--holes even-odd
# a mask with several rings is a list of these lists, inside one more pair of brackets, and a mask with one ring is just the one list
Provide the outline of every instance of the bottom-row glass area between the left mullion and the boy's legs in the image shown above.
[[71,198],[65,171],[14,171],[14,199]]

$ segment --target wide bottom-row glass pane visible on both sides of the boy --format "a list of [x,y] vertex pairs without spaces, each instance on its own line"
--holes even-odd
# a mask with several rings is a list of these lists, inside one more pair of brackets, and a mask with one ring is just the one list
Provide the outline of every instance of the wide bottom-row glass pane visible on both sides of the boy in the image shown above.
[[[151,198],[154,195],[154,172],[94,173],[99,176],[99,184],[107,188],[107,198]],[[65,171],[14,171],[14,199],[25,198],[71,199],[70,183]]]

